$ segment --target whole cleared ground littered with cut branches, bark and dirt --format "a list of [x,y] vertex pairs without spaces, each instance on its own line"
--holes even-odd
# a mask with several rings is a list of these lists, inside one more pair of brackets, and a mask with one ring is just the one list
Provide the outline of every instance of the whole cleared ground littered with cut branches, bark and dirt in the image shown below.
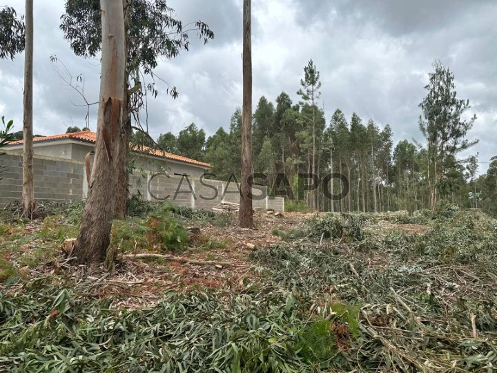
[[137,205],[110,272],[88,272],[61,250],[81,205],[46,210],[0,218],[1,370],[497,369],[496,221],[478,211],[259,211],[246,230]]

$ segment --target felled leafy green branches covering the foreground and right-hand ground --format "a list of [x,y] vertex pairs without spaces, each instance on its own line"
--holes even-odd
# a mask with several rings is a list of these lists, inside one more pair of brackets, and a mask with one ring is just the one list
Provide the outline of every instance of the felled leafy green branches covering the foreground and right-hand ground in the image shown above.
[[170,291],[150,308],[55,276],[6,286],[0,370],[496,371],[496,221],[389,219],[313,218],[251,254],[242,290]]

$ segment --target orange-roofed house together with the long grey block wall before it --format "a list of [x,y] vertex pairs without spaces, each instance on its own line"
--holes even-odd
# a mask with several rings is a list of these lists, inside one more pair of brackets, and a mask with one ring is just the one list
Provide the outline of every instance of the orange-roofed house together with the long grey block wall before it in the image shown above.
[[[86,198],[85,160],[95,149],[96,138],[94,132],[82,131],[33,139],[37,201],[66,202]],[[6,155],[1,156],[0,162],[7,172],[0,180],[0,207],[22,198],[23,142],[11,142],[2,151]],[[208,163],[146,146],[135,149],[131,159],[134,171],[129,178],[129,192],[145,200],[172,200],[175,204],[197,209],[212,209],[214,204],[222,202],[240,202],[237,182],[202,178],[211,168]],[[252,191],[254,208],[284,211],[284,198],[269,197],[266,187],[254,186]]]

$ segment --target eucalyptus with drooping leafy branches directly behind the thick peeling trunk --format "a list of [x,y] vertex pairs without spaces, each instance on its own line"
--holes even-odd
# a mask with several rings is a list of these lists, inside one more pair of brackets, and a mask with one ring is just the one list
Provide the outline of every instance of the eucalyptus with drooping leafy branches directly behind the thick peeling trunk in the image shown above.
[[[135,129],[144,131],[139,111],[146,105],[146,92],[157,97],[157,81],[164,79],[155,74],[159,59],[173,59],[182,50],[190,48],[192,33],[206,44],[214,33],[202,21],[184,24],[174,18],[174,10],[166,0],[122,0],[126,74],[124,77],[123,126],[119,140],[123,151],[119,154],[119,180],[117,185],[117,216],[126,215],[128,187],[128,144],[132,133],[132,117]],[[98,0],[66,0],[66,14],[61,17],[61,30],[76,55],[96,57],[101,50],[101,21]],[[149,79],[148,83],[144,82]],[[177,97],[175,86],[166,88]]]

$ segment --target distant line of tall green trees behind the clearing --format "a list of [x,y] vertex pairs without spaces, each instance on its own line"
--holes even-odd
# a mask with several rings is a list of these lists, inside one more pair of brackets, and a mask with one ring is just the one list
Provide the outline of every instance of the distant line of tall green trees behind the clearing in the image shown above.
[[[284,173],[293,191],[303,187],[299,173],[315,173],[320,179],[333,172],[347,176],[350,190],[346,198],[331,201],[317,189],[306,193],[304,205],[309,210],[415,211],[434,209],[440,200],[462,207],[477,207],[482,200],[480,207],[485,207],[493,193],[483,185],[476,186],[482,178],[476,179],[477,156],[458,158],[478,142],[468,139],[476,116],[463,119],[469,101],[457,97],[451,70],[438,61],[433,69],[425,86],[427,95],[420,103],[418,126],[425,143],[401,140],[393,144],[389,124],[380,125],[356,113],[348,119],[340,108],[328,121],[318,106],[319,72],[309,61],[297,91],[299,102],[285,92],[275,102],[260,97],[252,115],[253,172],[268,175],[269,187]],[[211,172],[220,180],[228,180],[232,173],[240,178],[241,126],[242,111],[236,108],[228,131],[220,127],[206,137],[205,131],[192,123],[177,136],[170,132],[159,135],[157,144],[210,163]],[[137,142],[153,146],[143,135],[135,136]],[[338,194],[342,185],[333,180],[328,187]]]

